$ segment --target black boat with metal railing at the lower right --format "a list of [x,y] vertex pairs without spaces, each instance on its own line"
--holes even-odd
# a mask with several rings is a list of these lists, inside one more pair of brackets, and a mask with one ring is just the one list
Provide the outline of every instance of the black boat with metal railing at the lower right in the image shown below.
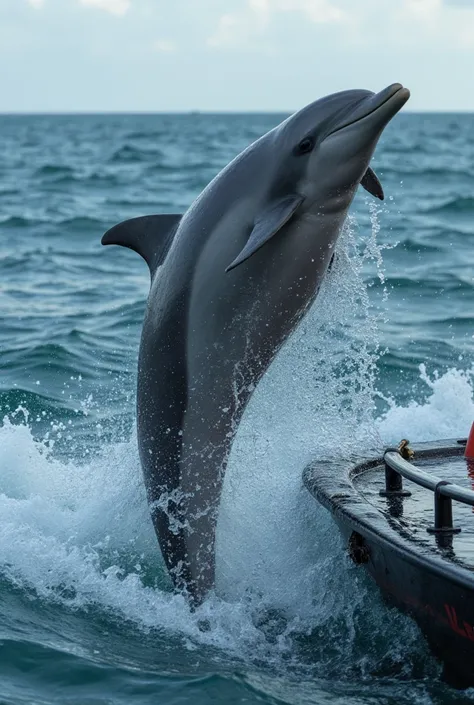
[[351,559],[416,620],[457,688],[474,685],[473,456],[474,424],[469,439],[404,439],[377,457],[316,460],[303,473]]

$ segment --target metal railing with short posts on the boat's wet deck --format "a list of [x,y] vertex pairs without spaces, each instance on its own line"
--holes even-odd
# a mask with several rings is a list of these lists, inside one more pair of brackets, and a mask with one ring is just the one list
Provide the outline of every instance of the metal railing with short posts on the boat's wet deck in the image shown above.
[[434,492],[434,526],[428,531],[433,534],[458,534],[461,529],[453,526],[452,500],[474,507],[474,491],[464,489],[447,480],[420,470],[408,462],[395,448],[389,448],[384,454],[385,490],[380,494],[384,497],[408,497],[411,492],[403,489],[403,480],[410,480],[416,485]]

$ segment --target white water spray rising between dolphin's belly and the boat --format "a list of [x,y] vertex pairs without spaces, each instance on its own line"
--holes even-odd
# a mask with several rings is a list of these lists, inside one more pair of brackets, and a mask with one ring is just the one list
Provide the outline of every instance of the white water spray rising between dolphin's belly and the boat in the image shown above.
[[379,314],[363,281],[367,260],[382,267],[373,220],[367,244],[349,219],[315,305],[251,398],[224,480],[218,589],[234,599],[265,596],[303,619],[324,592],[321,563],[341,549],[334,525],[302,488],[302,470],[316,455],[380,443],[373,421]]

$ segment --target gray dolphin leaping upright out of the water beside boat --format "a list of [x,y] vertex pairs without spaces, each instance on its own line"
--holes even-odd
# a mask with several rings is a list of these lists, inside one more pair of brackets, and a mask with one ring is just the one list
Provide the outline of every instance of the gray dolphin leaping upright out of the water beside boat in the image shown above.
[[138,361],[137,430],[153,524],[191,605],[214,586],[215,528],[246,404],[314,301],[387,123],[396,83],[303,108],[251,144],[184,215],[116,225],[104,245],[135,250],[151,287]]

